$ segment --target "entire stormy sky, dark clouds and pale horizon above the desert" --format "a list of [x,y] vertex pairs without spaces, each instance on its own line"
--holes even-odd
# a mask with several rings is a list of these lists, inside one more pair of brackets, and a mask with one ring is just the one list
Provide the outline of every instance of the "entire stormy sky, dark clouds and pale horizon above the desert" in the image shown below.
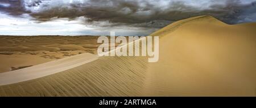
[[199,15],[255,22],[256,0],[0,0],[0,35],[144,36]]

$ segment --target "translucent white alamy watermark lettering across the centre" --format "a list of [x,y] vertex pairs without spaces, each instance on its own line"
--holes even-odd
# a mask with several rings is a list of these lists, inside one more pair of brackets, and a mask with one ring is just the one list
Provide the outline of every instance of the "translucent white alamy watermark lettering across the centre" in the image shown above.
[[[97,42],[101,44],[97,50],[99,56],[148,56],[148,62],[158,62],[159,59],[158,36],[154,36],[154,39],[152,36],[129,36],[127,42],[126,37],[115,37],[115,32],[110,32],[110,40],[101,36]],[[115,47],[115,44],[119,45]]]

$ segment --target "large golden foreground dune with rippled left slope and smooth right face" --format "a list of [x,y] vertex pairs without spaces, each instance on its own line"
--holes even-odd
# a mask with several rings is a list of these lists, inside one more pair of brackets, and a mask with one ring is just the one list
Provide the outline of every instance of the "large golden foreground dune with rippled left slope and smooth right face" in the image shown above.
[[[256,96],[255,28],[256,23],[228,25],[212,16],[180,20],[151,34],[160,37],[156,63],[147,57],[99,57],[56,67],[65,70],[48,76],[1,81],[0,96]],[[73,57],[79,56],[89,55]],[[35,66],[22,71],[32,68],[40,73]],[[15,75],[9,77],[17,80]]]

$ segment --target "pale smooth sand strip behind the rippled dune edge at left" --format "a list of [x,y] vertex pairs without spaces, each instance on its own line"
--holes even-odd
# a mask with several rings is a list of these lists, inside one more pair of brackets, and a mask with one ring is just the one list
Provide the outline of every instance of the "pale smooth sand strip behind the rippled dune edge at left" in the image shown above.
[[92,62],[98,58],[97,55],[90,53],[74,55],[59,59],[52,62],[38,64],[20,70],[0,73],[0,85],[19,83],[22,81],[32,80],[43,76],[62,72],[70,68],[81,66],[82,64]]

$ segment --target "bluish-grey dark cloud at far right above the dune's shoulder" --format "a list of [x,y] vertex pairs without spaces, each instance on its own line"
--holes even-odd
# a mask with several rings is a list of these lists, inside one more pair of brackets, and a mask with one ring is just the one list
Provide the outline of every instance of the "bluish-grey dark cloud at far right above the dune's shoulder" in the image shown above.
[[[215,16],[216,18],[228,24],[247,23],[256,21],[256,2],[241,5],[239,0],[229,0],[226,5],[212,5],[214,10],[204,10],[202,14]],[[250,19],[250,20],[246,20]]]

